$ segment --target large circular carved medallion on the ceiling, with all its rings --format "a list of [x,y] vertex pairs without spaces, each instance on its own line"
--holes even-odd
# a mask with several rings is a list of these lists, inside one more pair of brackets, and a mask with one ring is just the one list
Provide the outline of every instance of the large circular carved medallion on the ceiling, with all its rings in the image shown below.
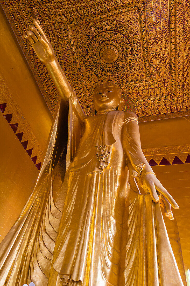
[[141,68],[140,37],[123,21],[106,19],[85,26],[76,46],[84,75],[95,84],[124,82]]

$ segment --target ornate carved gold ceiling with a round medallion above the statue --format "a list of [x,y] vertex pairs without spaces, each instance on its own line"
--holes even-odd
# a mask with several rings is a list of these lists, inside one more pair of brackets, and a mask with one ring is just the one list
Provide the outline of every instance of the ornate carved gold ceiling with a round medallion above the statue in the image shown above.
[[[189,0],[1,0],[54,114],[58,93],[23,35],[36,16],[86,114],[93,88],[117,83],[149,120],[188,114]],[[175,112],[173,114],[173,112]]]

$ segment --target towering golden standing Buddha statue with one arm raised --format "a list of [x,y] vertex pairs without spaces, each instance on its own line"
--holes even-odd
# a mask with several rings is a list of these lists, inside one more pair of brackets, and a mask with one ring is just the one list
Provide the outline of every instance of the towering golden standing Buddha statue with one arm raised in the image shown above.
[[136,114],[104,84],[85,116],[34,24],[25,37],[60,100],[35,189],[1,243],[0,285],[182,286],[160,209],[173,219],[178,205],[143,155]]

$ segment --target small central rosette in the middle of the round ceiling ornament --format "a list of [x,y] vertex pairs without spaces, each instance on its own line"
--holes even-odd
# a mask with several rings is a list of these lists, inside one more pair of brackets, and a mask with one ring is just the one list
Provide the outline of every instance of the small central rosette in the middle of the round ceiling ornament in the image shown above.
[[115,45],[104,45],[100,50],[100,59],[104,63],[115,63],[119,57],[119,50]]

